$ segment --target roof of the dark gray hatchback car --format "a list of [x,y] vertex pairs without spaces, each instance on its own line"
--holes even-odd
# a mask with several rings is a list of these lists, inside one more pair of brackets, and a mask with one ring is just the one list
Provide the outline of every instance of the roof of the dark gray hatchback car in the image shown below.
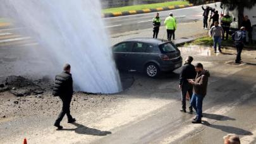
[[161,44],[167,43],[168,41],[160,40],[160,39],[153,39],[153,38],[133,38],[133,39],[124,40],[123,42],[144,42],[144,43],[152,44],[152,45],[161,45]]

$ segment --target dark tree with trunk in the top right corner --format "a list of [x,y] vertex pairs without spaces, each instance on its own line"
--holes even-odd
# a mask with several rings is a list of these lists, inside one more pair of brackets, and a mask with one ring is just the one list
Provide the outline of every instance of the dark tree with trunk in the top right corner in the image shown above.
[[[188,0],[190,3],[193,4],[204,4],[208,0]],[[220,1],[221,5],[225,5],[228,7],[229,10],[238,9],[238,27],[241,27],[241,23],[243,21],[243,11],[245,8],[252,8],[255,4],[255,0],[217,0],[216,2]]]

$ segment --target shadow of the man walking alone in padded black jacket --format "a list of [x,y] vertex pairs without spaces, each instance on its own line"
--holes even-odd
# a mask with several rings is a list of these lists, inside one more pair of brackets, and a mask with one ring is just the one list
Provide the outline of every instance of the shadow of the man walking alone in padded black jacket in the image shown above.
[[87,126],[83,126],[82,124],[72,123],[76,126],[74,129],[61,129],[61,131],[75,131],[75,133],[82,135],[94,135],[94,136],[106,136],[111,134],[111,131],[101,131],[99,129],[88,128]]

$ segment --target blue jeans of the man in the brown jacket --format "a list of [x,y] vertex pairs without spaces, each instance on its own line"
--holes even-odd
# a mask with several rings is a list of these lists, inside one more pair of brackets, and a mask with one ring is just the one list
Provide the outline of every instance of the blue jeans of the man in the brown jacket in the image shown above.
[[193,93],[192,99],[190,100],[190,104],[195,109],[195,111],[197,111],[197,121],[200,121],[202,118],[203,100],[204,97],[202,97],[201,95],[197,95],[195,93]]

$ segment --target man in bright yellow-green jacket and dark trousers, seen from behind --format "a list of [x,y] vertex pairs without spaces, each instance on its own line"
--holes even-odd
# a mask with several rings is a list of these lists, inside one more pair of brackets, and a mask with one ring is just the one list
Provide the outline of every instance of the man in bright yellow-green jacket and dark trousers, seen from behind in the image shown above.
[[164,25],[166,25],[167,39],[171,41],[171,37],[173,36],[174,30],[176,30],[176,23],[175,19],[173,18],[173,13],[169,13],[169,16],[164,21]]

